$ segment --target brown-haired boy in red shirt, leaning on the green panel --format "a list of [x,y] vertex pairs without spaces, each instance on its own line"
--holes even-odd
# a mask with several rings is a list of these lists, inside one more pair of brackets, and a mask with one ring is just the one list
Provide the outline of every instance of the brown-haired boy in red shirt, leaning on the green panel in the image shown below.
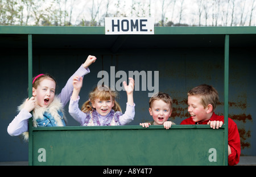
[[[214,109],[218,104],[218,92],[209,85],[200,85],[188,91],[188,112],[191,117],[180,124],[210,124],[215,129],[222,126],[224,116],[217,116]],[[237,165],[240,159],[241,145],[237,124],[228,118],[228,163]]]

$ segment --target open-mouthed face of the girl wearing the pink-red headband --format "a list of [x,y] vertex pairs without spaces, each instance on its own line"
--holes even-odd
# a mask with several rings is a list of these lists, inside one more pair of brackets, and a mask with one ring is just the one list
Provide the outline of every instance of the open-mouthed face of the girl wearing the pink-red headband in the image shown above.
[[32,95],[35,96],[36,104],[40,107],[47,107],[52,103],[55,96],[56,83],[52,79],[43,79],[38,88],[32,88]]

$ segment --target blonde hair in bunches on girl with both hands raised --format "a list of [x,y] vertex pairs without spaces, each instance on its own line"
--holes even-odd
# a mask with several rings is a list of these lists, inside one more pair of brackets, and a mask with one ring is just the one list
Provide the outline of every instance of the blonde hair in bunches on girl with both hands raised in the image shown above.
[[92,107],[92,104],[96,99],[100,100],[110,100],[111,98],[113,99],[114,106],[112,109],[114,111],[120,111],[122,112],[122,109],[120,105],[117,103],[115,100],[117,98],[118,94],[115,91],[110,90],[109,87],[106,86],[97,86],[89,93],[89,100],[87,100],[84,104],[82,104],[81,111],[82,112],[90,112],[94,108]]

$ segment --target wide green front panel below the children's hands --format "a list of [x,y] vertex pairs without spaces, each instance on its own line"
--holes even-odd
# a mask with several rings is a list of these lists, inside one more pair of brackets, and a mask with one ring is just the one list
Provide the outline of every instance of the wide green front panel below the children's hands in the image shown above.
[[31,140],[32,165],[224,165],[224,128],[209,125],[33,128]]

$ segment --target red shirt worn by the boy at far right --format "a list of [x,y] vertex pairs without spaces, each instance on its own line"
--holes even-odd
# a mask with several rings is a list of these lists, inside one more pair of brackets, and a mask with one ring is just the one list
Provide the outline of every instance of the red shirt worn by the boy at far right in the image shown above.
[[[214,112],[212,117],[210,117],[211,121],[218,120],[224,123],[224,116],[218,116]],[[199,122],[199,124],[207,124],[209,120]],[[228,145],[231,149],[231,154],[228,157],[229,165],[237,165],[240,159],[241,154],[241,145],[240,145],[240,136],[237,129],[237,124],[230,118],[228,118]],[[191,125],[196,124],[192,117],[181,121],[180,125]]]

